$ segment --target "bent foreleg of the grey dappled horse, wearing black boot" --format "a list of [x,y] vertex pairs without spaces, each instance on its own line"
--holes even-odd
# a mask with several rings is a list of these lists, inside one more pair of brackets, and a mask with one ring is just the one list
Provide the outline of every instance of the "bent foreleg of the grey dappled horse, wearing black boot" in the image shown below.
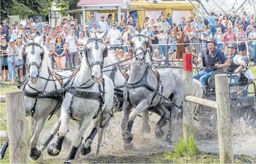
[[131,143],[131,141],[133,140],[133,134],[132,132],[132,128],[133,128],[133,124],[134,124],[134,120],[136,118],[136,116],[138,114],[140,114],[141,112],[143,112],[144,110],[148,109],[149,105],[148,105],[148,100],[143,99],[141,102],[139,102],[139,104],[137,105],[136,109],[134,109],[130,115],[129,115],[129,121],[126,124],[126,129],[125,132],[123,134],[124,137],[124,143],[129,144]]

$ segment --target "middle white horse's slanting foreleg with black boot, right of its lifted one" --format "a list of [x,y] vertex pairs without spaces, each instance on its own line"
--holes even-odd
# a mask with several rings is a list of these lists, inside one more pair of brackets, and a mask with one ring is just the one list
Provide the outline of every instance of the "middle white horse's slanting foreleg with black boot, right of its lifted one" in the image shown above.
[[[75,159],[75,155],[76,155],[76,152],[77,152],[79,145],[82,141],[82,137],[83,137],[86,129],[89,127],[91,120],[92,120],[92,117],[89,118],[88,116],[84,116],[82,118],[82,123],[79,124],[80,128],[78,130],[78,133],[73,140],[72,149],[68,155],[67,161],[64,164],[71,164],[71,162]],[[81,153],[82,153],[82,151],[81,151]]]

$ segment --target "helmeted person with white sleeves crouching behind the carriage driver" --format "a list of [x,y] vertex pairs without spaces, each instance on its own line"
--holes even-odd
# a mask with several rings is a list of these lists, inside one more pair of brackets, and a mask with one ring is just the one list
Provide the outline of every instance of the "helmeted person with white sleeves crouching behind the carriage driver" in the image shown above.
[[[237,52],[238,44],[236,42],[231,42],[228,44],[227,48],[228,53],[226,54],[226,58],[230,61],[228,72],[234,72],[236,76],[240,76],[238,72],[244,71],[244,76],[249,80],[249,83],[254,82],[253,72],[249,68],[246,68],[247,63],[249,63],[248,58],[239,55]],[[238,83],[238,79],[232,78],[231,82]]]

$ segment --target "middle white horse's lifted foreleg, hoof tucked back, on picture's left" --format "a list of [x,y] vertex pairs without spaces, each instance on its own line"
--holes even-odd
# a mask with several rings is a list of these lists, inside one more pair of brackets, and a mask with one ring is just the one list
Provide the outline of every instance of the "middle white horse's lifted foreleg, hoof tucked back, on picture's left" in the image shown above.
[[61,112],[60,112],[59,136],[56,140],[56,143],[50,144],[48,147],[48,150],[47,150],[47,152],[50,156],[57,156],[60,154],[64,137],[68,133],[68,120],[70,119],[70,115],[69,115],[68,111],[63,108],[64,107],[61,107]]

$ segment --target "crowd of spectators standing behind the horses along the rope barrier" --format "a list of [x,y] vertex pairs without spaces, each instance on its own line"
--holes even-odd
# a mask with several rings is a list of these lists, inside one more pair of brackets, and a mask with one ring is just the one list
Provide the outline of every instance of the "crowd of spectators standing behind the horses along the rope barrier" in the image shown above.
[[[155,1],[157,3],[157,1]],[[165,65],[175,65],[172,60],[182,60],[183,53],[198,55],[206,48],[206,41],[214,37],[218,44],[217,48],[225,51],[228,42],[239,41],[238,51],[240,55],[246,55],[245,41],[249,41],[251,55],[254,56],[256,66],[256,24],[255,15],[236,15],[235,21],[229,19],[228,14],[214,14],[211,12],[209,21],[202,20],[196,14],[181,17],[180,22],[173,22],[171,14],[161,12],[155,20],[154,17],[145,17],[143,25],[140,25],[134,16],[130,15],[127,23],[120,21],[112,22],[112,14],[105,18],[101,15],[96,20],[93,14],[85,27],[78,23],[77,19],[70,16],[63,19],[60,25],[50,27],[48,22],[43,22],[42,17],[34,17],[27,20],[26,25],[15,21],[12,27],[2,21],[0,27],[1,49],[1,82],[15,84],[15,80],[22,80],[26,75],[25,67],[16,63],[24,63],[21,52],[24,47],[22,36],[26,35],[29,40],[44,35],[44,45],[49,50],[49,58],[52,68],[75,68],[77,58],[82,53],[82,46],[87,43],[84,30],[89,29],[92,33],[101,33],[109,30],[105,43],[110,46],[117,60],[123,60],[129,56],[131,47],[131,29],[138,31],[147,30],[150,38],[150,53],[153,61],[159,61]],[[168,45],[167,45],[168,44]],[[252,54],[253,53],[253,54]],[[17,62],[18,61],[18,62]],[[16,77],[16,74],[18,76]]]

